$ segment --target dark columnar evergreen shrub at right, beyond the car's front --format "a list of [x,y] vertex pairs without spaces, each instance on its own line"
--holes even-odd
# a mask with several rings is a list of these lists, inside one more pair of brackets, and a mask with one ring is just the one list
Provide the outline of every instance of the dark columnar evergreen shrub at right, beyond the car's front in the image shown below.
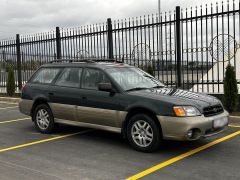
[[234,67],[228,64],[224,78],[224,106],[229,112],[236,110],[238,105],[238,87]]

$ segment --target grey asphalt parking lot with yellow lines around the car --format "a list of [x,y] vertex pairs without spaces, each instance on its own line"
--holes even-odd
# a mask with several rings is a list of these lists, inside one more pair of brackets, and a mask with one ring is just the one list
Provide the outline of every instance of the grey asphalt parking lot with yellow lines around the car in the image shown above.
[[240,125],[197,142],[165,141],[155,153],[133,150],[119,134],[60,126],[38,133],[17,104],[0,102],[3,179],[239,179]]

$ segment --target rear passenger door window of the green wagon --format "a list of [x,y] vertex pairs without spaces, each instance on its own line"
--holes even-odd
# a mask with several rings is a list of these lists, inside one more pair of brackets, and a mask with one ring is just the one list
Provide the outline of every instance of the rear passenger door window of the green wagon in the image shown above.
[[65,87],[80,87],[82,68],[65,68],[55,85]]

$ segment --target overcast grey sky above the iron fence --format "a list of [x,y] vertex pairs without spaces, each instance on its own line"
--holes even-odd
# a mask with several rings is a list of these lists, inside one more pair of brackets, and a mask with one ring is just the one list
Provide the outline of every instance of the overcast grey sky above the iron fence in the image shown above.
[[[205,5],[216,0],[161,0],[162,11]],[[227,1],[227,0],[224,0]],[[60,27],[155,14],[158,0],[0,0],[0,39]]]

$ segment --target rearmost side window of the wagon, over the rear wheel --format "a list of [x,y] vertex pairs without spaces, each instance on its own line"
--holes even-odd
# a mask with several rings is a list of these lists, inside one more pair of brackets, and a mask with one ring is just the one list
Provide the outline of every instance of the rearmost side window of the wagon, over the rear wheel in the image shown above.
[[51,84],[60,70],[61,68],[41,68],[36,72],[30,82],[39,84]]

